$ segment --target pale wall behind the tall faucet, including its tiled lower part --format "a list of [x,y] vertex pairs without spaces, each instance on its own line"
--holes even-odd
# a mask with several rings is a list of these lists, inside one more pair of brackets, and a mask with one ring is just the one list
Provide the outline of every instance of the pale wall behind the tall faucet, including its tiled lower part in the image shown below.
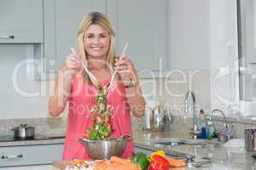
[[[209,112],[210,101],[210,1],[169,1],[171,93],[160,98],[169,103],[172,114],[183,114],[184,94],[193,89],[198,109]],[[183,78],[185,78],[184,82]],[[174,111],[173,111],[174,110]],[[178,110],[178,111],[175,111]]]

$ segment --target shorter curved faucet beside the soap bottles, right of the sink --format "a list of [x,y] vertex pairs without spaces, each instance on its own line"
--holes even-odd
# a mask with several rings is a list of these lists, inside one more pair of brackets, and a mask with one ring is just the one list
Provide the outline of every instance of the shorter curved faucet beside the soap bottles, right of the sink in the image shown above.
[[228,121],[227,121],[227,117],[225,116],[224,114],[224,111],[221,111],[220,109],[214,109],[212,110],[212,114],[211,114],[211,117],[214,113],[221,113],[222,116],[224,116],[224,120],[225,120],[225,128],[226,130],[224,132],[219,132],[218,133],[218,139],[219,140],[223,140],[223,141],[228,141],[231,136],[232,136],[232,128],[233,128],[233,125],[230,127]]

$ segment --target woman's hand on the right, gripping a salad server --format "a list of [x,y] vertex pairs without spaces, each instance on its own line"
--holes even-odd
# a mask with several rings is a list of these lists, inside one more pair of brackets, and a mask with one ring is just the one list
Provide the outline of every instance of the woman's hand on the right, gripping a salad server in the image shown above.
[[131,82],[136,82],[136,69],[131,60],[128,59],[127,55],[115,59],[115,70],[119,73],[119,76],[125,86],[130,85]]

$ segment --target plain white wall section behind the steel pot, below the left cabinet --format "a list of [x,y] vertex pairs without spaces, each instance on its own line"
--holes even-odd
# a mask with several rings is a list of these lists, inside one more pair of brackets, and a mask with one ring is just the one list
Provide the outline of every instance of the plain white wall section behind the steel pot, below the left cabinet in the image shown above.
[[24,66],[34,57],[33,46],[1,44],[0,56],[0,119],[47,116],[48,83],[34,80],[32,64]]

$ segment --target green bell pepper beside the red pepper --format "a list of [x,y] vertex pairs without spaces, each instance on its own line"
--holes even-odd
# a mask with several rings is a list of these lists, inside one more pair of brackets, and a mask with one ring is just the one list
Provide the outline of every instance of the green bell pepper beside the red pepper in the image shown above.
[[131,161],[141,167],[142,170],[148,169],[148,166],[150,164],[148,156],[146,154],[143,154],[142,152],[137,152],[136,155],[132,156]]

